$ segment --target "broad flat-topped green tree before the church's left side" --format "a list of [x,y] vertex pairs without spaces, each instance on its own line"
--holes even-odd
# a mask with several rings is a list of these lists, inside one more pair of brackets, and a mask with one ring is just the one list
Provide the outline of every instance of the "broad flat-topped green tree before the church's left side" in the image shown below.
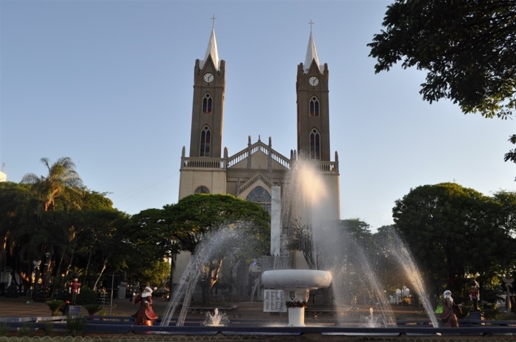
[[[234,265],[246,265],[268,253],[270,215],[260,204],[225,194],[191,194],[163,209],[144,210],[133,218],[136,226],[153,231],[155,250],[198,253],[197,247],[223,228],[235,230],[235,238],[213,251],[203,266],[203,303],[209,303],[213,286],[219,281],[222,261],[230,256]],[[138,235],[136,235],[138,236]],[[171,245],[163,240],[166,238]],[[145,246],[142,243],[143,246]]]

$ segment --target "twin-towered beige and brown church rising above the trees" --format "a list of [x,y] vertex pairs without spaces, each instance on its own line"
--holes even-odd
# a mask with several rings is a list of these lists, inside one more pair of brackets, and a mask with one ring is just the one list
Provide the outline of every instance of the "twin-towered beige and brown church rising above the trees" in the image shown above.
[[335,152],[332,161],[330,150],[328,79],[328,65],[319,65],[310,32],[305,61],[297,66],[295,84],[297,150],[291,150],[286,157],[272,148],[271,138],[266,143],[260,138],[252,142],[249,137],[247,146],[228,155],[228,149],[222,148],[225,61],[219,59],[212,28],[204,60],[197,59],[193,69],[190,148],[187,155],[183,147],[181,155],[179,199],[193,193],[232,194],[259,202],[270,213],[273,188],[284,188],[291,166],[298,155],[304,155],[316,161],[324,175],[334,199],[331,211],[335,219],[340,219],[338,154]]

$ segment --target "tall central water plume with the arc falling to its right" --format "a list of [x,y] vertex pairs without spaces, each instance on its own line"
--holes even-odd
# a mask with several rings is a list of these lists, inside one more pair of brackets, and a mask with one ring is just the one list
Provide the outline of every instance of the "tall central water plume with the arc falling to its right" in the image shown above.
[[383,321],[395,327],[396,320],[385,291],[378,284],[363,251],[351,234],[335,225],[337,210],[324,175],[318,170],[318,162],[302,157],[296,160],[286,184],[282,201],[284,222],[297,228],[297,237],[309,267],[331,271],[334,304],[337,307],[345,306],[344,294],[348,289],[341,284],[349,272],[342,269],[342,265],[346,258],[346,247],[349,247],[353,249],[356,269],[365,278],[364,286],[370,289],[372,299],[380,305]]

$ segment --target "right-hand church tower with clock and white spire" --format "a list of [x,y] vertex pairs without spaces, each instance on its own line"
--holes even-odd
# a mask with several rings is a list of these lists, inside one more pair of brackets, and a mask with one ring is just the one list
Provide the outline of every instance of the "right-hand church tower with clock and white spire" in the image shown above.
[[297,150],[321,161],[330,161],[328,76],[328,64],[319,65],[310,30],[307,56],[297,68]]

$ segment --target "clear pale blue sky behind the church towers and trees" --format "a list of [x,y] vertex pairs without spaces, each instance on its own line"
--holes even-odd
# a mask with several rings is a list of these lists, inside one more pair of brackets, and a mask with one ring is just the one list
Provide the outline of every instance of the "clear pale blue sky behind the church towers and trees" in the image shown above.
[[[0,161],[7,180],[71,157],[85,185],[128,214],[176,203],[190,140],[193,67],[212,20],[226,61],[223,145],[272,137],[296,149],[296,72],[312,20],[330,71],[331,151],[341,218],[392,223],[411,188],[515,190],[516,120],[463,115],[419,94],[415,69],[374,74],[366,46],[391,1],[0,2]],[[333,159],[333,158],[332,158]]]

